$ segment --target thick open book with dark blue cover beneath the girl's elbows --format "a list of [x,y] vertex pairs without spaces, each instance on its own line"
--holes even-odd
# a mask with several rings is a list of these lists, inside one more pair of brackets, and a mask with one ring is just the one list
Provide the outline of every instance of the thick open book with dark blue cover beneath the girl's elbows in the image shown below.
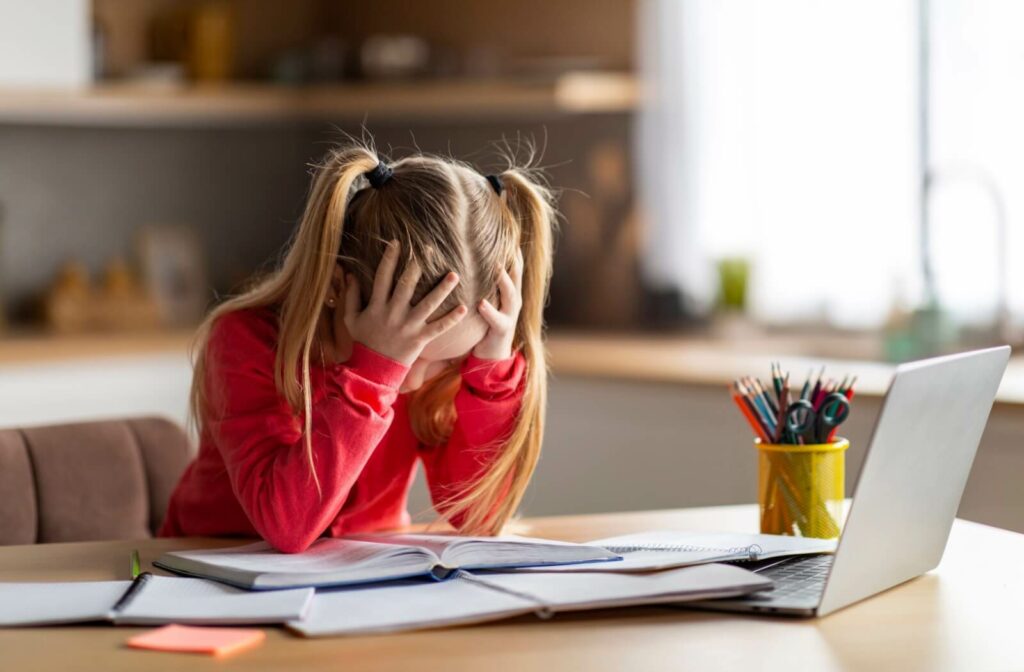
[[599,546],[525,537],[358,535],[319,539],[302,553],[258,542],[234,548],[173,551],[154,564],[194,577],[264,590],[344,586],[412,577],[443,579],[455,570],[550,566],[617,560]]

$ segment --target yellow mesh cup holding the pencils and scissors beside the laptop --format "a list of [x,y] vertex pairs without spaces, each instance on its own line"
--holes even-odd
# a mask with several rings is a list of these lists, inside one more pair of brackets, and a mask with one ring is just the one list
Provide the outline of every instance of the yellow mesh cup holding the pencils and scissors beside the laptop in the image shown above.
[[754,440],[758,449],[761,532],[839,537],[850,442],[792,446]]

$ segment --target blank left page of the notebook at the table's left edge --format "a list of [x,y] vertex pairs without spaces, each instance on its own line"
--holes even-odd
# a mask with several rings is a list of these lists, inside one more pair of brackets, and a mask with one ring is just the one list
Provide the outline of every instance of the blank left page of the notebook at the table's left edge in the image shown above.
[[0,627],[105,621],[130,581],[0,583]]

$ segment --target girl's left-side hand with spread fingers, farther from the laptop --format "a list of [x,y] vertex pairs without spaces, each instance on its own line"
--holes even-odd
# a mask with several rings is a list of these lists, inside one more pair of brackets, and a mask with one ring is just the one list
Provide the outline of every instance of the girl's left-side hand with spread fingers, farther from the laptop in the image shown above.
[[353,341],[409,366],[420,356],[427,343],[459,324],[466,317],[467,309],[458,305],[437,320],[427,322],[459,284],[459,277],[450,272],[419,303],[411,305],[421,275],[420,266],[415,262],[406,267],[392,294],[398,253],[398,242],[391,241],[377,266],[373,293],[366,308],[360,309],[359,287],[355,278],[348,277],[343,319]]

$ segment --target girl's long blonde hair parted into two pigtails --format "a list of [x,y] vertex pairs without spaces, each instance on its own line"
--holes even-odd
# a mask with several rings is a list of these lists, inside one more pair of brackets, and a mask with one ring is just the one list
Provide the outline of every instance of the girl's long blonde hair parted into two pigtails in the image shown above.
[[[513,343],[526,362],[519,413],[486,472],[437,504],[442,515],[458,519],[468,534],[498,534],[518,508],[541,454],[548,374],[543,311],[556,222],[552,193],[531,171],[510,165],[500,174],[504,188],[498,194],[468,166],[430,156],[401,159],[391,165],[391,179],[378,188],[366,187],[360,178],[378,163],[372,148],[348,144],[332,150],[315,166],[305,211],[280,268],[214,308],[199,329],[191,417],[199,425],[207,417],[206,350],[217,320],[237,310],[275,307],[274,383],[305,420],[306,455],[318,489],[310,442],[310,353],[335,265],[341,262],[355,275],[366,301],[384,247],[395,239],[403,251],[396,274],[413,260],[423,269],[414,301],[449,271],[462,279],[438,309],[442,313],[459,303],[494,302],[499,268],[511,268],[521,251],[522,308]],[[460,384],[453,366],[411,395],[413,431],[424,444],[436,446],[451,435]]]

